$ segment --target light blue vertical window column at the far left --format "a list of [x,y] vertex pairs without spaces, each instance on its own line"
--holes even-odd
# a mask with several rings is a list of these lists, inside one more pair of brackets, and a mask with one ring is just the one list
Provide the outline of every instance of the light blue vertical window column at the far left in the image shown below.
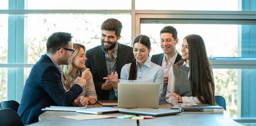
[[[9,9],[24,9],[26,0],[9,0]],[[8,16],[8,64],[24,63],[24,15]],[[26,56],[25,56],[26,57]],[[26,58],[25,58],[26,59]],[[8,68],[8,100],[21,101],[24,68]]]

